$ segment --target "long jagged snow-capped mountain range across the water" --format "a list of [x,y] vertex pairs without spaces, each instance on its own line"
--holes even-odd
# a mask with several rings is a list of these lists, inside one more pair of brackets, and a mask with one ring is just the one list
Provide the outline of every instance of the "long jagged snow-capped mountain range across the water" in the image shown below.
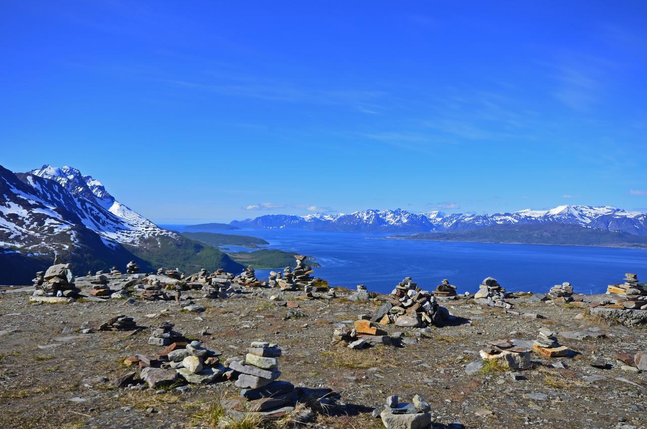
[[606,231],[623,231],[632,235],[647,235],[647,214],[624,211],[607,205],[560,205],[550,210],[525,209],[514,213],[494,214],[444,214],[439,211],[417,214],[402,209],[307,216],[266,214],[254,219],[231,222],[234,226],[251,228],[375,233],[466,231],[493,225],[543,223],[579,225]]

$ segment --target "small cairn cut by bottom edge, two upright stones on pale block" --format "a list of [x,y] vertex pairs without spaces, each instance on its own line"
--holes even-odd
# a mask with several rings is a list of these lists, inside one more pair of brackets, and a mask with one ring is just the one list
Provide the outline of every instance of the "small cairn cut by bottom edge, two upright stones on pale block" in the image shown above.
[[400,402],[397,396],[391,395],[380,417],[386,429],[426,429],[432,424],[431,410],[429,402],[419,395],[411,402]]

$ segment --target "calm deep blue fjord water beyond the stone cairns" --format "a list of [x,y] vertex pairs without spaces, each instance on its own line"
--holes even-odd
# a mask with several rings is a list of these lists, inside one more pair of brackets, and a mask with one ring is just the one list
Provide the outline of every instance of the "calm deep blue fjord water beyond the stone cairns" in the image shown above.
[[[575,292],[599,294],[607,284],[621,283],[626,272],[647,281],[647,251],[639,249],[384,240],[378,238],[386,235],[272,229],[219,233],[251,235],[270,242],[267,248],[312,256],[322,265],[314,269],[316,277],[333,286],[366,284],[375,292],[390,292],[408,276],[428,289],[449,279],[459,292],[476,292],[488,275],[510,292],[547,292],[569,281]],[[258,277],[268,273],[257,270]]]

